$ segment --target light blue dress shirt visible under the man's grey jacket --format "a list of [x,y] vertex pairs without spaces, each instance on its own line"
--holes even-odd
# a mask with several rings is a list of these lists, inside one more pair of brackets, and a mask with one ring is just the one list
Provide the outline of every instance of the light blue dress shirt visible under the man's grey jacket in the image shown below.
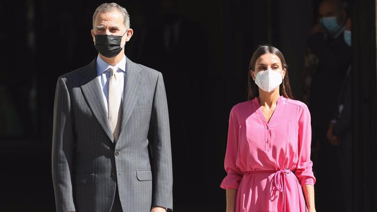
[[[119,83],[120,95],[121,95],[121,102],[123,103],[123,92],[124,92],[124,80],[126,79],[126,56],[123,56],[122,60],[115,65],[118,67],[118,71],[116,71],[116,81]],[[97,56],[97,74],[98,80],[100,82],[103,101],[105,104],[106,112],[108,111],[107,101],[109,100],[109,78],[111,75],[109,63],[106,63],[100,55]]]

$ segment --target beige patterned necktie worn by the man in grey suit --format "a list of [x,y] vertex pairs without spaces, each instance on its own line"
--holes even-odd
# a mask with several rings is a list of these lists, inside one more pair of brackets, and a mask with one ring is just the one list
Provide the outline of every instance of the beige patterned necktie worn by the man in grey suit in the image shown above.
[[122,106],[119,89],[119,81],[116,80],[117,67],[110,67],[111,75],[109,79],[109,97],[107,100],[107,107],[109,113],[109,123],[111,131],[113,132],[115,142],[119,138],[120,123],[122,120]]

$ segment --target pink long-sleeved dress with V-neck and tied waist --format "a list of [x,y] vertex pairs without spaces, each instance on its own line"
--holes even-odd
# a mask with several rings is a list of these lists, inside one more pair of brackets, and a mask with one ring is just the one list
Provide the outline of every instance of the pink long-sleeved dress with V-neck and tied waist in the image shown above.
[[305,212],[314,186],[308,107],[282,96],[267,123],[258,98],[230,111],[223,189],[238,189],[235,212]]

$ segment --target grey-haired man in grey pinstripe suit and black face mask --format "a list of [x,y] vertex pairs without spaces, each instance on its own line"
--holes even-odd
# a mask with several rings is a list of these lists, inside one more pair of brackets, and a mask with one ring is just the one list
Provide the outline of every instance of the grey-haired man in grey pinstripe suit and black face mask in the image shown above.
[[58,78],[52,178],[58,212],[172,210],[169,115],[162,74],[124,55],[129,15],[100,5],[98,56]]

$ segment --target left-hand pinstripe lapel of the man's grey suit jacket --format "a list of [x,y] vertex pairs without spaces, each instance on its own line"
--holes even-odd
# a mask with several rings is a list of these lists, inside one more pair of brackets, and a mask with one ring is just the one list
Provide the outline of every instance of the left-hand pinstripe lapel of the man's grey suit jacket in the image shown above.
[[101,124],[107,136],[109,136],[110,140],[114,142],[114,137],[109,125],[106,108],[103,103],[100,82],[97,78],[98,74],[96,60],[97,57],[89,65],[81,70],[81,74],[83,74],[84,77],[80,81],[80,87],[83,91],[84,97],[89,104],[89,107],[92,109],[93,114]]

